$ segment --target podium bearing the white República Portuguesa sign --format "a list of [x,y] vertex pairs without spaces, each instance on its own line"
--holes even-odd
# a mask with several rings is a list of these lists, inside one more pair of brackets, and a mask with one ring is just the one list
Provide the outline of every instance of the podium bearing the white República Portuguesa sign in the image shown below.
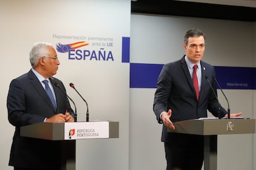
[[61,141],[61,170],[75,169],[75,141],[119,137],[119,122],[37,123],[20,127],[20,136]]

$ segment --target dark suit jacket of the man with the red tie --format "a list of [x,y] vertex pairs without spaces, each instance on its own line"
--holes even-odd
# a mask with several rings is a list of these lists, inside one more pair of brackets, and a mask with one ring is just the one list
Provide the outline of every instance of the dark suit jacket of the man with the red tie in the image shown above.
[[[184,57],[181,60],[164,65],[158,77],[153,103],[153,110],[158,123],[163,123],[160,119],[160,114],[169,109],[172,110],[171,121],[173,122],[206,118],[207,109],[214,116],[218,116],[218,100],[205,78],[205,76],[208,77],[217,94],[216,83],[213,79],[213,76],[215,77],[215,69],[208,63],[202,61],[200,63],[202,67],[202,84],[198,101]],[[221,115],[224,116],[226,113],[227,111],[221,107]],[[170,134],[167,132],[166,126],[163,125],[161,140],[163,142],[170,141]]]

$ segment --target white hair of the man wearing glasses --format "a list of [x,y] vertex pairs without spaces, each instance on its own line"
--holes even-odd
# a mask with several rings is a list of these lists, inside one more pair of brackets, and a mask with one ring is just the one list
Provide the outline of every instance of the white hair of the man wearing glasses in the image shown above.
[[53,47],[53,44],[48,42],[36,42],[30,51],[30,64],[35,67],[41,57],[47,57],[49,52],[47,47]]

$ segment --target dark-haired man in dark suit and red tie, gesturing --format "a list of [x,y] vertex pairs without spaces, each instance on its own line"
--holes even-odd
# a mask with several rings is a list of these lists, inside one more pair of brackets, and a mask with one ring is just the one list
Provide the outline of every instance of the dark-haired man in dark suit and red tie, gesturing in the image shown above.
[[[173,122],[176,121],[206,118],[207,110],[218,116],[219,105],[213,79],[215,69],[201,60],[205,51],[205,34],[198,29],[187,31],[184,51],[186,55],[181,60],[164,65],[158,77],[153,103],[156,119],[158,123],[163,123],[161,141],[164,142],[168,170],[202,169],[203,136],[171,133],[167,132],[167,128],[175,129]],[[197,65],[195,71],[194,65]],[[193,76],[194,72],[197,76]],[[209,79],[215,94],[205,77]],[[227,113],[221,107],[221,116]]]

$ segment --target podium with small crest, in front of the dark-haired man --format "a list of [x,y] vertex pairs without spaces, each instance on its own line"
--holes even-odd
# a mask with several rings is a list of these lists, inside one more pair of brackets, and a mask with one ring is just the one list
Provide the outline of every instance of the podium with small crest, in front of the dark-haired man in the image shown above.
[[168,132],[197,134],[204,136],[204,169],[217,170],[218,135],[254,134],[255,119],[189,119],[173,123],[176,129]]

